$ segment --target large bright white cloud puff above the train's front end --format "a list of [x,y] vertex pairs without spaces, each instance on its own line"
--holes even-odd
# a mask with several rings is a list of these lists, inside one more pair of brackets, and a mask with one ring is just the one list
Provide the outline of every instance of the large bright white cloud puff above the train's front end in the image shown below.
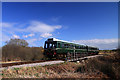
[[30,26],[28,26],[26,29],[23,31],[28,31],[28,32],[40,32],[40,33],[50,33],[54,32],[55,29],[60,29],[62,26],[61,25],[48,25],[39,21],[32,21],[30,23]]

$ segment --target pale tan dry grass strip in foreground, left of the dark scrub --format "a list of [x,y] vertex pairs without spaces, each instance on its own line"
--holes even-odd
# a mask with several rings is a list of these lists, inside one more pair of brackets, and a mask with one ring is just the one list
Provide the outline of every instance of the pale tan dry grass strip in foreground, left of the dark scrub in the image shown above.
[[24,67],[6,69],[3,71],[3,78],[105,78],[103,73],[78,72],[77,69],[83,66],[81,63],[65,62],[49,66]]

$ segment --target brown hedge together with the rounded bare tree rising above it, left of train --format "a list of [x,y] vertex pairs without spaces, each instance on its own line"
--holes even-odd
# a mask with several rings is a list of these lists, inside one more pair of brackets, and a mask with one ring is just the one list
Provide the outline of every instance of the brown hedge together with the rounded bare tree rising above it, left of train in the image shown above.
[[28,47],[23,39],[11,39],[2,47],[2,61],[35,61],[44,59],[43,47]]

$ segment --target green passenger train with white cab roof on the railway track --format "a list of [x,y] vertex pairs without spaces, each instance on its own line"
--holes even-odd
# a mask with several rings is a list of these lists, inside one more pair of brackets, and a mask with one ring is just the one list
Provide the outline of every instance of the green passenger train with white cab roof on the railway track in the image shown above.
[[44,55],[50,59],[73,59],[97,55],[99,48],[74,42],[48,38],[44,44]]

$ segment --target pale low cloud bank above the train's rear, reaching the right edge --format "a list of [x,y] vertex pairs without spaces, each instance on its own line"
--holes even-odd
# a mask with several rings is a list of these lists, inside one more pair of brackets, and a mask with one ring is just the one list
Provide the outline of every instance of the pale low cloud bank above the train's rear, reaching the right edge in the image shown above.
[[118,47],[118,39],[73,40],[73,42],[96,46],[100,49],[115,49]]

